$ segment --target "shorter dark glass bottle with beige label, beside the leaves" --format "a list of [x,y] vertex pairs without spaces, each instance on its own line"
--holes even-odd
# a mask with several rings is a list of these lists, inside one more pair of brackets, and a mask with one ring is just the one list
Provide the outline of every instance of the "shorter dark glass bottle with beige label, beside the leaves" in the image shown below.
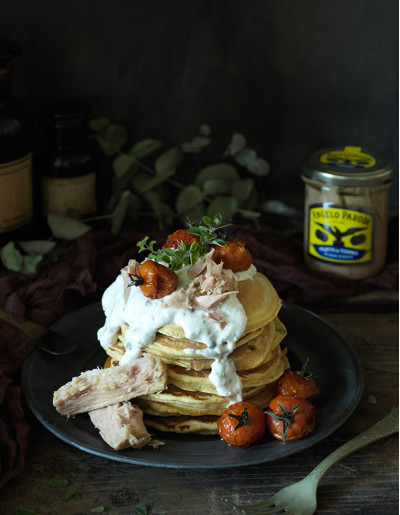
[[43,121],[48,153],[41,167],[42,204],[45,214],[94,213],[96,206],[95,159],[88,139],[90,107],[78,100],[47,105]]

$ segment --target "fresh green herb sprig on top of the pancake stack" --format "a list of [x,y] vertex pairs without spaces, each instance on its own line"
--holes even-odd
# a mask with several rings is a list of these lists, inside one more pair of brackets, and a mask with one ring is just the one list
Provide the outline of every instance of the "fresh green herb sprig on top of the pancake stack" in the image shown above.
[[199,237],[199,241],[192,243],[181,242],[177,249],[155,249],[155,240],[149,241],[146,236],[137,243],[139,252],[148,250],[148,258],[154,259],[157,263],[163,262],[172,270],[180,270],[183,266],[193,265],[200,258],[209,252],[210,245],[225,246],[225,241],[218,237],[218,232],[232,224],[224,223],[221,213],[217,213],[214,218],[203,216],[202,222],[198,227],[189,226],[187,232]]

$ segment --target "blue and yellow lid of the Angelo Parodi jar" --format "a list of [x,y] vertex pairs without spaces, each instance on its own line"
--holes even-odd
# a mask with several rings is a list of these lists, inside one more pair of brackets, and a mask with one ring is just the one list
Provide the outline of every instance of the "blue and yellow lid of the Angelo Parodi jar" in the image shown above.
[[371,186],[390,181],[392,175],[387,158],[352,146],[317,150],[303,166],[304,178],[336,186]]

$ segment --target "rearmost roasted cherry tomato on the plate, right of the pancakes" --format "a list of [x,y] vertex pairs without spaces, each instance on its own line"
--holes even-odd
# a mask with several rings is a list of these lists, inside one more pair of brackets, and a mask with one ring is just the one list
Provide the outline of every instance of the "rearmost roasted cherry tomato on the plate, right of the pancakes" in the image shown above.
[[284,372],[275,386],[275,396],[289,395],[310,401],[318,394],[318,386],[308,368],[308,359],[301,370]]

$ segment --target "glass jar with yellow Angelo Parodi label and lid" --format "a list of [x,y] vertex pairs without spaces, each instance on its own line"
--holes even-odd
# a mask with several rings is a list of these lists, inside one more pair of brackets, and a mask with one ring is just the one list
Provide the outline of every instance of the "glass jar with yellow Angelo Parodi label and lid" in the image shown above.
[[304,259],[350,279],[385,265],[393,166],[361,147],[314,152],[304,163]]

